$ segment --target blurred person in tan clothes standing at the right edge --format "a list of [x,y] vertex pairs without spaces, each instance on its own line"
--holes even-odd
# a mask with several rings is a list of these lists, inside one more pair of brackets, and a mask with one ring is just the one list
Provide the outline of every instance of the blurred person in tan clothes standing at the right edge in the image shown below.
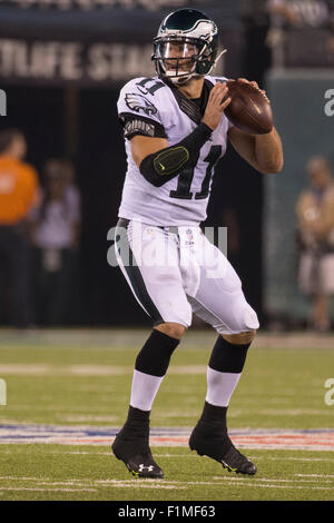
[[296,203],[298,286],[311,299],[310,327],[331,329],[334,295],[334,179],[328,160],[313,156],[306,165],[310,187]]

